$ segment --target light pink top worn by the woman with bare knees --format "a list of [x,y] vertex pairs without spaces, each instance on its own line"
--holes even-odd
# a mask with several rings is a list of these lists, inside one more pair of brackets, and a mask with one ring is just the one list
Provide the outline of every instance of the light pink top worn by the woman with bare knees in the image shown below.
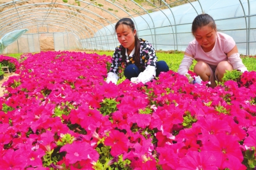
[[196,61],[204,61],[212,66],[217,66],[221,61],[227,61],[227,53],[236,45],[236,42],[229,35],[224,33],[216,33],[216,42],[213,49],[204,52],[201,45],[194,39],[189,42],[186,52],[193,56]]

